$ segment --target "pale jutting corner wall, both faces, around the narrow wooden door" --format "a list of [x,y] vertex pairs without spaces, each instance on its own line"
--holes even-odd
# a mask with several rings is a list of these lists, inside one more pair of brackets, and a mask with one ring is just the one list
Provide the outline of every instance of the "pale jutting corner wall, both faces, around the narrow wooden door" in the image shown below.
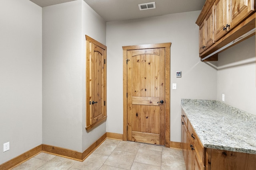
[[106,133],[85,130],[85,34],[106,43],[106,22],[83,0],[43,8],[43,144],[83,152]]

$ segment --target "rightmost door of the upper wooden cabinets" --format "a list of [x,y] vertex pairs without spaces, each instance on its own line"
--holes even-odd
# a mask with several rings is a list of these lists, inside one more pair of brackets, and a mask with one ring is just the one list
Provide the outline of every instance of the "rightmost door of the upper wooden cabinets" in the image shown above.
[[230,28],[251,14],[254,9],[254,0],[229,0],[230,3]]

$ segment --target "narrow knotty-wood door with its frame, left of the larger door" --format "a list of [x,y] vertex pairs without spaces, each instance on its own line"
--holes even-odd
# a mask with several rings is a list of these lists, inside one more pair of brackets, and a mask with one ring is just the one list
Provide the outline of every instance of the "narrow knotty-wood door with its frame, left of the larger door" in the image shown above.
[[106,120],[106,46],[86,36],[86,129]]

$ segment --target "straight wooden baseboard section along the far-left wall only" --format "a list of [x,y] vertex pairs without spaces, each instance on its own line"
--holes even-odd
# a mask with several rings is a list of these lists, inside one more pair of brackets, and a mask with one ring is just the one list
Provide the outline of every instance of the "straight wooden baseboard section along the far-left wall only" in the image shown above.
[[8,160],[7,162],[4,162],[0,165],[0,170],[8,170],[10,168],[13,168],[26,160],[32,158],[36,154],[40,153],[42,151],[42,145],[39,145],[38,147],[35,147],[33,149],[28,150],[27,152],[16,156],[15,158]]

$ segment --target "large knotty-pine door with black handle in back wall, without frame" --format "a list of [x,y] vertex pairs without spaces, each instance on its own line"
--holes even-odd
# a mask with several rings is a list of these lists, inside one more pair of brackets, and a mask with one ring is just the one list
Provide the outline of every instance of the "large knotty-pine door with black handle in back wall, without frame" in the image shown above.
[[165,145],[165,48],[127,51],[128,140]]

